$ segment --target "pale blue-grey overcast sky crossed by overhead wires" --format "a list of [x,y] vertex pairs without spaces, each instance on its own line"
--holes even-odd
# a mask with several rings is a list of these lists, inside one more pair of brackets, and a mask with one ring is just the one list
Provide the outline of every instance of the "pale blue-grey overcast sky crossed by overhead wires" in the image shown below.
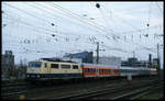
[[163,2],[2,2],[2,53],[28,63],[95,52],[99,42],[100,56],[155,58],[163,19]]

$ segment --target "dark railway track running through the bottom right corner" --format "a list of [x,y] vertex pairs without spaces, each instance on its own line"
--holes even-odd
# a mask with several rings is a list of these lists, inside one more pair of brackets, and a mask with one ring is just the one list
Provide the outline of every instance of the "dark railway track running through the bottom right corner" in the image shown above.
[[[147,94],[150,92],[155,92],[158,90],[157,88],[162,88],[162,83],[157,85],[155,83],[148,83],[144,86],[140,86],[138,88],[121,88],[120,91],[116,91],[114,93],[108,93],[108,94],[100,94],[99,97],[91,98],[91,99],[109,99],[109,100],[135,100],[144,94]],[[147,99],[147,98],[146,98]],[[158,99],[158,98],[157,98]],[[151,99],[152,100],[152,99]]]

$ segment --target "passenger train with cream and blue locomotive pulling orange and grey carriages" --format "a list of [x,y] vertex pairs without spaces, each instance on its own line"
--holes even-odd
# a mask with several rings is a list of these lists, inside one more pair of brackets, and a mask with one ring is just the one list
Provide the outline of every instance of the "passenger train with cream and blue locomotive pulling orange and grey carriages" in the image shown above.
[[116,65],[78,64],[48,60],[30,61],[26,69],[28,81],[150,75],[157,75],[157,70],[155,68],[146,67],[121,67]]

